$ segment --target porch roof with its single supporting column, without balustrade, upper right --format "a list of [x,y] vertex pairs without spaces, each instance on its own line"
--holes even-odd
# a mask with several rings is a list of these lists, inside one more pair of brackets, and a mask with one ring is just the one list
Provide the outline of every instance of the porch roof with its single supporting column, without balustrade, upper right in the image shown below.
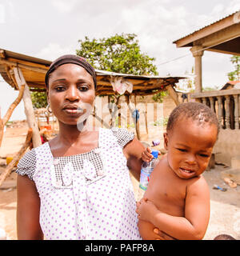
[[202,55],[205,50],[240,55],[240,11],[174,41],[177,47],[191,47],[195,59],[195,92],[202,91]]

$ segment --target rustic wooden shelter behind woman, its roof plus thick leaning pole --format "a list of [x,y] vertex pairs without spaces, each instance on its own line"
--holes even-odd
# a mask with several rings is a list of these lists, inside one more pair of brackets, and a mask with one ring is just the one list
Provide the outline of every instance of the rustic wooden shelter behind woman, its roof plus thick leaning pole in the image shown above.
[[[10,50],[0,49],[0,74],[2,75],[2,78],[14,88],[14,90],[19,90],[19,92],[22,91],[26,119],[30,128],[33,129],[34,147],[39,146],[41,142],[40,139],[38,139],[38,125],[34,120],[34,110],[30,101],[30,91],[46,91],[44,78],[50,64],[50,61],[41,58],[34,58]],[[126,97],[129,97],[130,95],[144,96],[157,94],[162,90],[168,90],[176,105],[178,105],[179,102],[174,86],[180,79],[186,78],[118,74],[103,70],[96,70],[96,74],[96,96],[117,95],[118,88],[116,88],[116,83],[123,82],[130,85],[130,89],[124,90],[124,92],[121,93]],[[34,136],[34,134],[36,134],[36,136]]]

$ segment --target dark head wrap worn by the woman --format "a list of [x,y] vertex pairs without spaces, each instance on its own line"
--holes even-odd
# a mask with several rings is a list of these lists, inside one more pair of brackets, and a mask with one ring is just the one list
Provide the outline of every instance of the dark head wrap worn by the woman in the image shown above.
[[58,68],[58,66],[61,66],[63,64],[67,64],[67,63],[73,63],[79,66],[82,66],[94,79],[94,87],[96,89],[97,87],[97,79],[96,79],[96,73],[94,68],[90,65],[89,62],[86,62],[85,58],[82,58],[80,56],[77,55],[72,55],[72,54],[67,54],[67,55],[63,55],[59,58],[57,58],[56,60],[54,60],[54,62],[51,63],[49,70],[47,70],[46,75],[45,75],[45,84],[46,87],[48,87],[48,81],[49,81],[49,75],[50,73],[54,72],[54,70],[56,70]]

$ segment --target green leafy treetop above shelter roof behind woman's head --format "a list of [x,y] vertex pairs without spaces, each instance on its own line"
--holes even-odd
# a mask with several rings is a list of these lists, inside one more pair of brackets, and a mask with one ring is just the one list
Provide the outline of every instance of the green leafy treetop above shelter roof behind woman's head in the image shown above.
[[86,58],[95,69],[123,74],[154,74],[157,67],[147,54],[142,54],[136,34],[115,34],[110,38],[78,40],[76,54]]

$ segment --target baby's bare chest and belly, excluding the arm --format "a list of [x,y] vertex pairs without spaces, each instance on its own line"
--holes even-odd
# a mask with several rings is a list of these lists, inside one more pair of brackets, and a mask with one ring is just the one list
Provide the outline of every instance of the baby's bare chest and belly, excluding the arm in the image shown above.
[[[186,187],[193,182],[193,179],[190,181],[178,178],[173,170],[170,170],[166,158],[163,158],[150,175],[145,197],[154,202],[158,210],[172,216],[182,217],[185,209]],[[138,229],[142,239],[158,239],[158,234],[153,232],[154,225],[152,223],[139,220]]]

